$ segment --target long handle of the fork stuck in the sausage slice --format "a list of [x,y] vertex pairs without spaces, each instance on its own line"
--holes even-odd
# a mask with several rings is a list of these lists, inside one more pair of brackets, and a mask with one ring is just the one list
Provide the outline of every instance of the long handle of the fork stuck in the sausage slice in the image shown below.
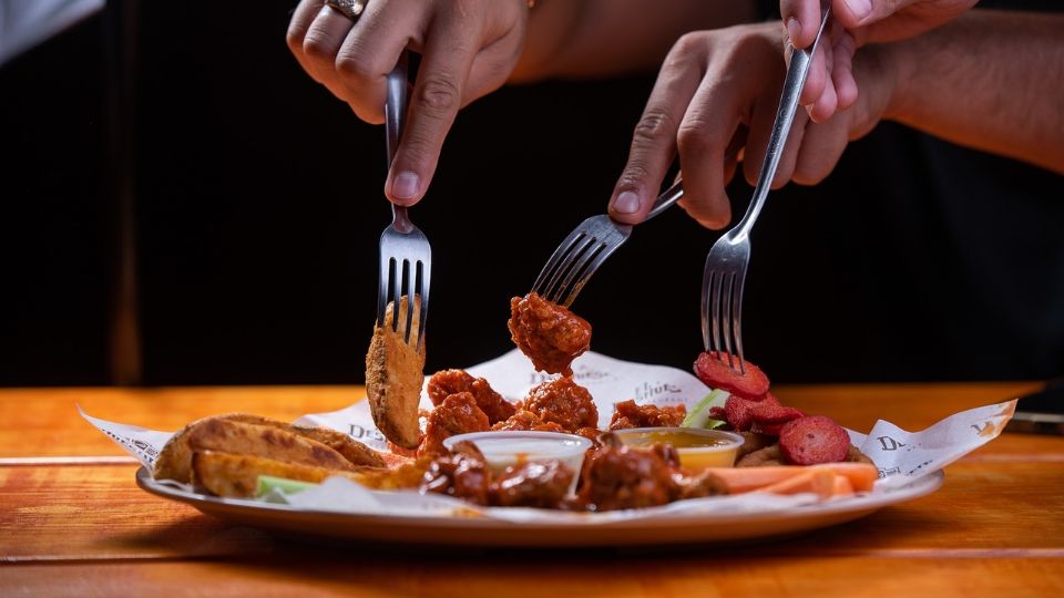
[[736,225],[734,238],[745,237],[749,234],[754,221],[757,220],[757,216],[761,213],[765,198],[768,197],[773,178],[776,177],[776,169],[779,167],[779,159],[784,155],[784,147],[787,145],[790,126],[794,124],[795,114],[798,112],[798,99],[801,96],[801,89],[806,85],[806,75],[809,74],[809,65],[812,63],[812,56],[816,55],[817,47],[820,44],[820,38],[823,35],[828,17],[831,16],[831,2],[829,0],[821,0],[820,10],[823,16],[820,18],[820,29],[817,31],[817,38],[814,40],[812,45],[804,50],[791,47],[790,66],[787,68],[787,79],[784,81],[784,91],[779,97],[779,109],[776,112],[773,133],[768,138],[768,148],[765,151],[761,172],[757,176],[757,186],[754,188],[754,199],[750,202],[750,207],[747,208],[743,219]]

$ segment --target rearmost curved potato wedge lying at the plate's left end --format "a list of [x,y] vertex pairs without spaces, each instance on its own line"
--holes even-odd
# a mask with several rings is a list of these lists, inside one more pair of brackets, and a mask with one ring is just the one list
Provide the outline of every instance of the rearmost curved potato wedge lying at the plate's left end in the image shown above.
[[152,475],[155,477],[155,480],[176,480],[177,482],[185,483],[191,482],[192,447],[188,446],[188,435],[197,426],[215,420],[274,426],[320,442],[321,444],[325,444],[326,446],[341,454],[352,465],[371,467],[388,466],[388,463],[379,452],[374,451],[369,446],[366,446],[357,440],[344,434],[342,432],[337,432],[336,430],[309,425],[295,425],[250,413],[225,413],[196,420],[174,434],[173,437],[170,439],[170,442],[167,442],[163,447],[158,458],[155,460],[155,466],[152,471]]

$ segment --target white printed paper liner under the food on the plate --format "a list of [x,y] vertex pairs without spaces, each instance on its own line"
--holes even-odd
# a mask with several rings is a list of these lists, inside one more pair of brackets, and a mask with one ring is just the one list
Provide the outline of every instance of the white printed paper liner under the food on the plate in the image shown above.
[[[467,369],[474,377],[484,378],[499,393],[510,401],[519,401],[529,389],[549,380],[536,372],[520,351],[513,350],[492,361]],[[647,365],[587,352],[573,363],[573,375],[585,386],[598,408],[598,426],[608,427],[613,404],[634,399],[637,403],[656,405],[686,404],[694,406],[710,389],[693,374],[664,365]],[[421,404],[431,409],[428,394],[422,392]],[[1012,417],[1016,400],[972,409],[953,414],[920,432],[904,431],[890,422],[879,421],[868,434],[848,430],[850,439],[861,452],[872,458],[879,468],[880,480],[868,493],[879,495],[911,484],[922,476],[938,472],[971,451],[998,437]],[[108,422],[92,417],[84,411],[82,416],[111,440],[125,448],[149,470],[173,435],[144,427]],[[822,415],[830,416],[830,413]],[[314,413],[299,417],[296,423],[331,427],[350,434],[375,448],[387,451],[387,443],[374,425],[366,401],[329,413]],[[187,489],[186,485],[174,484]],[[861,495],[841,498],[860,501]],[[342,477],[334,477],[318,487],[293,495],[275,492],[265,499],[287,503],[296,508],[357,513],[388,516],[473,516],[505,519],[515,523],[611,523],[618,519],[641,517],[688,516],[697,513],[715,515],[723,513],[765,513],[810,505],[818,502],[811,494],[776,496],[749,493],[735,496],[717,496],[679,501],[668,505],[644,509],[621,511],[589,515],[534,508],[478,507],[436,494],[419,494],[413,491],[379,492],[365,488]]]

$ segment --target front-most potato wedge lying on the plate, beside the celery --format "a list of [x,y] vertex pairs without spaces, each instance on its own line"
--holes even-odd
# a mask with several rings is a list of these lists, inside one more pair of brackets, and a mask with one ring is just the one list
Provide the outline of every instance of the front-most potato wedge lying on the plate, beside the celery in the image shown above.
[[254,455],[235,455],[217,451],[196,451],[192,454],[193,483],[212,494],[226,497],[248,498],[255,495],[258,476],[272,475],[318,484],[334,475],[375,489],[416,488],[421,482],[428,461],[410,462],[396,470],[367,468],[342,472],[285,463]]

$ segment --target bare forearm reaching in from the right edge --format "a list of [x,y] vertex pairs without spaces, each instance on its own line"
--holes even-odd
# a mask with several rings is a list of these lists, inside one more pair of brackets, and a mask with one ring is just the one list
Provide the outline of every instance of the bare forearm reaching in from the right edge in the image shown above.
[[887,118],[1064,173],[1064,14],[970,11],[888,51]]

